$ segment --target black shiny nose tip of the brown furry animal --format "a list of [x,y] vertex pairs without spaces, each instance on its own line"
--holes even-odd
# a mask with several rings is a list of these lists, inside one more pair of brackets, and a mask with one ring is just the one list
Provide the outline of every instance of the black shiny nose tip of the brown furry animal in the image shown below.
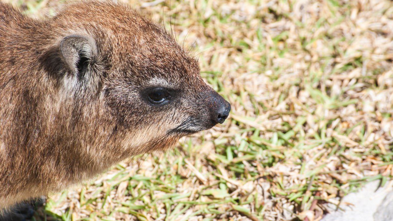
[[224,123],[231,111],[230,103],[217,93],[213,94],[212,101],[213,107],[211,109],[211,120],[213,121],[213,124]]

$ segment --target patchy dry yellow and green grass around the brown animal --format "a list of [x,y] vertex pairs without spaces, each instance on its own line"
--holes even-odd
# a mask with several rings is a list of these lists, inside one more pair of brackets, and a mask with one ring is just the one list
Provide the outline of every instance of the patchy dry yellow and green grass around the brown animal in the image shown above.
[[311,221],[364,182],[391,185],[391,1],[129,3],[199,57],[230,118],[51,195],[36,220]]

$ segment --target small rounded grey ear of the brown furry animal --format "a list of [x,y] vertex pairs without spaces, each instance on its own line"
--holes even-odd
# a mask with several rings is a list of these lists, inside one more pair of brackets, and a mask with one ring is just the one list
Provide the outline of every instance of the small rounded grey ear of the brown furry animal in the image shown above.
[[94,61],[95,43],[81,35],[70,35],[60,42],[60,53],[72,74],[82,79]]

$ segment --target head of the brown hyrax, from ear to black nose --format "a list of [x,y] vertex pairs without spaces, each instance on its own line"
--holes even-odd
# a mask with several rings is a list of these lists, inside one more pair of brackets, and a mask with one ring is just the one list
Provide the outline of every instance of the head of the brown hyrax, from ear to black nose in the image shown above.
[[[57,40],[44,63],[79,115],[94,116],[90,127],[103,124],[96,136],[105,131],[108,142],[146,152],[228,117],[230,104],[204,83],[198,61],[130,7],[77,3],[48,24]],[[83,108],[87,100],[94,111]]]

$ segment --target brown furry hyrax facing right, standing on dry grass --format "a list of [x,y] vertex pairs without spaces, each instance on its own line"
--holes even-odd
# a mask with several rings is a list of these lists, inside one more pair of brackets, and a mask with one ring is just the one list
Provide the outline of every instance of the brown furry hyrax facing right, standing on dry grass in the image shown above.
[[79,2],[36,20],[0,3],[0,208],[164,150],[229,110],[129,6]]

